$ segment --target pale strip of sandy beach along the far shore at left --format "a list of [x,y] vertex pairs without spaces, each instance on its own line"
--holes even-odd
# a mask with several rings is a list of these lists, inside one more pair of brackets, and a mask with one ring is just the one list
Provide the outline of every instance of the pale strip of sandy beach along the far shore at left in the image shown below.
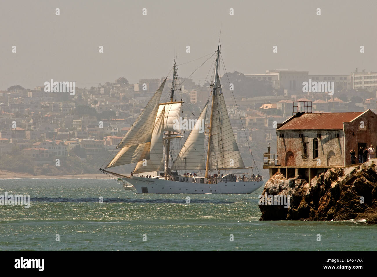
[[57,176],[47,176],[47,175],[31,175],[28,173],[17,173],[8,170],[0,170],[0,179],[111,179],[106,174],[77,174],[77,175],[57,175]]

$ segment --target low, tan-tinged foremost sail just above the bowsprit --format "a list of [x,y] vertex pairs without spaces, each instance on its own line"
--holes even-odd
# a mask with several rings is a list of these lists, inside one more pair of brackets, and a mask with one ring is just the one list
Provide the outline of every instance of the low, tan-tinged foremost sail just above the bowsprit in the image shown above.
[[106,168],[149,159],[149,150],[150,142],[123,147]]

